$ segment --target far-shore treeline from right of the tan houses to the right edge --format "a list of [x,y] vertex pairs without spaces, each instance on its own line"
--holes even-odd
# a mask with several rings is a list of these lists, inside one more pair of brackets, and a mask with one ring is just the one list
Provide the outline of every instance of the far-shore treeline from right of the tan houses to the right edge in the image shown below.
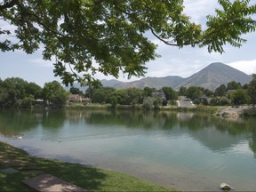
[[181,86],[178,91],[172,87],[163,87],[160,90],[145,87],[143,90],[138,88],[128,88],[116,90],[112,87],[98,86],[89,88],[85,91],[85,96],[92,99],[92,103],[136,105],[140,104],[143,108],[158,108],[160,105],[175,105],[175,100],[179,96],[187,96],[195,104],[209,106],[226,106],[226,105],[244,105],[256,102],[256,75],[249,84],[237,83],[235,81],[228,84],[221,84],[211,91],[200,86]]

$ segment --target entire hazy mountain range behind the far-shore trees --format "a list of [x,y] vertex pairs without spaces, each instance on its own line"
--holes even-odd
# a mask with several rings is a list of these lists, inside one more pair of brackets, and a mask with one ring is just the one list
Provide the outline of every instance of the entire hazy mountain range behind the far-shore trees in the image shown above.
[[[110,86],[116,89],[127,89],[130,87],[143,89],[147,86],[160,89],[164,86],[168,86],[175,90],[179,90],[180,86],[201,86],[214,91],[218,86],[220,86],[220,84],[227,85],[231,81],[239,82],[240,84],[247,84],[251,80],[252,76],[249,76],[236,68],[231,68],[223,63],[215,62],[187,78],[182,78],[180,76],[145,77],[133,82],[104,79],[101,80],[101,84],[103,86]],[[81,88],[79,84],[74,84],[74,86],[83,92],[87,89],[87,87]],[[69,89],[67,88],[67,90]]]

